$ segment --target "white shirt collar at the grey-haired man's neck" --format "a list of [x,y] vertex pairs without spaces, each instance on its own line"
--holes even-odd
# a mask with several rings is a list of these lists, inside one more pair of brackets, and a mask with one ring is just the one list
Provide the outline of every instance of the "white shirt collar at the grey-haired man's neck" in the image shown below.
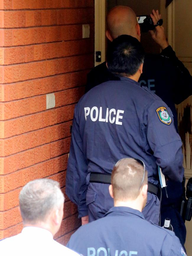
[[53,240],[53,235],[47,229],[38,227],[25,227],[21,231],[22,236],[31,236],[35,239]]

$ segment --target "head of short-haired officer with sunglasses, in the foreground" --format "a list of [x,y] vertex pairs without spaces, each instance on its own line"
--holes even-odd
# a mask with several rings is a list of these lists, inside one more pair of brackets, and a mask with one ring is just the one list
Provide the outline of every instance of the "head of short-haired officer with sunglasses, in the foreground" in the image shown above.
[[137,202],[142,210],[147,200],[147,171],[144,174],[144,166],[133,158],[119,161],[112,171],[110,190],[116,204],[121,202],[126,206],[128,202]]

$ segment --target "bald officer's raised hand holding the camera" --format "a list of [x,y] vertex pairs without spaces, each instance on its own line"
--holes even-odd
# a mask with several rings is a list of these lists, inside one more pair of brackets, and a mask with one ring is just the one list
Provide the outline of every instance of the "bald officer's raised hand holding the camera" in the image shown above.
[[[161,19],[161,14],[159,11],[152,10],[152,13],[150,14],[153,24],[156,25],[157,22]],[[167,38],[165,36],[164,27],[157,26],[154,30],[149,30],[153,40],[163,49],[165,49],[167,46],[169,46],[169,43],[167,42]]]

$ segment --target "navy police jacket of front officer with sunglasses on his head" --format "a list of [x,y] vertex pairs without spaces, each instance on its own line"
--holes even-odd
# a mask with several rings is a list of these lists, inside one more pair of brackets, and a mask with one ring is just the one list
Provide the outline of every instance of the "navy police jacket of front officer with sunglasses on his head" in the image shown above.
[[84,256],[185,256],[175,233],[149,223],[129,207],[113,207],[81,226],[67,247]]

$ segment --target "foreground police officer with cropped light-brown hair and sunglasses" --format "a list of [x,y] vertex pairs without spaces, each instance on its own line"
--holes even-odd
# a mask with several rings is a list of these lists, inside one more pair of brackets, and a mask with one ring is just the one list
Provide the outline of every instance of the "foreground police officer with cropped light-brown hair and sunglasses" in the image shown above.
[[81,226],[67,247],[87,256],[186,256],[173,231],[144,219],[147,171],[138,161],[118,161],[109,186],[114,207],[103,218]]

